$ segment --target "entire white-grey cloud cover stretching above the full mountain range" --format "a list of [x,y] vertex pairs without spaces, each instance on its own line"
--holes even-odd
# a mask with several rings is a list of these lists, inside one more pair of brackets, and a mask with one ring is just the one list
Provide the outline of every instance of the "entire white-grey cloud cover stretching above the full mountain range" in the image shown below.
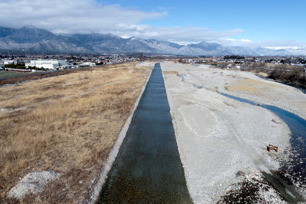
[[121,37],[166,40],[178,44],[216,42],[228,46],[300,46],[305,43],[294,41],[261,41],[230,38],[243,29],[212,31],[209,28],[153,27],[144,21],[161,20],[168,17],[168,9],[144,12],[138,8],[122,7],[118,4],[105,5],[97,0],[0,0],[0,26],[21,28],[33,25],[54,33],[112,33]]

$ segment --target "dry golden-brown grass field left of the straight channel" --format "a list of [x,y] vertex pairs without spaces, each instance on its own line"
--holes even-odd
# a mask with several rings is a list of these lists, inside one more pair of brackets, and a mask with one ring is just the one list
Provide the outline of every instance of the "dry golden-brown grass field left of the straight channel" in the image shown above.
[[104,65],[0,87],[0,203],[13,202],[6,193],[20,177],[44,170],[60,179],[19,202],[86,196],[151,69]]

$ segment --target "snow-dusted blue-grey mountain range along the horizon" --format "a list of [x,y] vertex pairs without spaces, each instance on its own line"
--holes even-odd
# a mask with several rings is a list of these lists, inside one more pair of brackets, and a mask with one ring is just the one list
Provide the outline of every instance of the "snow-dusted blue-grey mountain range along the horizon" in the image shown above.
[[35,53],[100,54],[108,52],[143,52],[144,54],[173,54],[188,56],[224,55],[306,55],[306,48],[227,47],[202,41],[198,44],[179,45],[155,39],[121,38],[117,35],[53,34],[31,25],[20,29],[0,27],[0,51]]

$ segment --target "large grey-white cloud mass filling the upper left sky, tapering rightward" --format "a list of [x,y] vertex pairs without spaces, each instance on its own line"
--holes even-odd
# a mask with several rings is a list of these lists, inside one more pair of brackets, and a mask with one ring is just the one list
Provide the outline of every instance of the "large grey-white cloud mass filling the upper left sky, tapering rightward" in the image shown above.
[[118,4],[102,5],[95,0],[0,0],[0,13],[3,27],[21,28],[30,24],[65,33],[141,31],[148,26],[140,22],[167,14],[123,8]]

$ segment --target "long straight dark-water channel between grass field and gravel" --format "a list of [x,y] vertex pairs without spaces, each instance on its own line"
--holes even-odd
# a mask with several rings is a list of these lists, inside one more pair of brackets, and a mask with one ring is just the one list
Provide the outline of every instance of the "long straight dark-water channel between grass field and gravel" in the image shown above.
[[192,203],[156,63],[99,203]]

